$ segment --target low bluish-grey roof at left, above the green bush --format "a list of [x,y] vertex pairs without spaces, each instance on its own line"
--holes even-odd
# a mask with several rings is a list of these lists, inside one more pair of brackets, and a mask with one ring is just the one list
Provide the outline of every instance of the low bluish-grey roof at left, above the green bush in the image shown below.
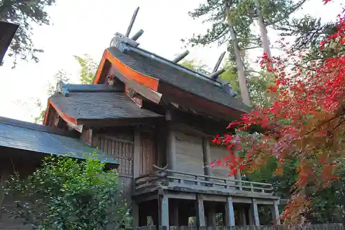
[[88,154],[96,151],[102,162],[118,164],[113,157],[61,133],[67,134],[57,128],[0,117],[0,146],[36,153],[68,155],[78,159],[85,159]]

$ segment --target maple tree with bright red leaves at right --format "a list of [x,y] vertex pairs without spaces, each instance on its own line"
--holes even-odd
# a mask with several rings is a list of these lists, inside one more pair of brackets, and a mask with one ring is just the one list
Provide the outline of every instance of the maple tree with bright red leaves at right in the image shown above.
[[[326,4],[331,0],[323,1]],[[284,160],[297,158],[299,176],[282,214],[286,224],[304,222],[303,214],[311,204],[306,196],[308,184],[322,189],[339,179],[337,166],[344,160],[345,149],[344,12],[337,15],[337,33],[319,47],[332,46],[337,51],[335,57],[308,61],[307,67],[290,68],[291,60],[296,62],[306,56],[304,50],[286,50],[286,57],[270,60],[264,54],[262,68],[268,67],[275,75],[275,84],[269,87],[275,95],[273,104],[255,108],[239,121],[231,122],[228,128],[235,128],[236,135],[217,136],[213,140],[228,146],[230,154],[225,163],[230,175],[237,169],[253,171],[270,157],[277,157],[277,173],[281,173]],[[261,126],[261,134],[249,134],[248,129],[253,126]]]

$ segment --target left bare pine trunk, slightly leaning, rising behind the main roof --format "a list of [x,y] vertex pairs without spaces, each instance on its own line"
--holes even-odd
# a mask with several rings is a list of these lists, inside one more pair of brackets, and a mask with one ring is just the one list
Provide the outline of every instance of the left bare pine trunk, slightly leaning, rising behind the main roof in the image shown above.
[[[225,1],[226,2],[226,1]],[[241,90],[242,102],[247,106],[250,106],[250,98],[247,87],[246,71],[244,70],[244,64],[241,57],[241,52],[239,50],[237,35],[233,27],[233,21],[230,18],[230,2],[226,2],[226,17],[228,19],[228,25],[231,35],[231,43],[233,44],[233,49],[235,52],[235,61],[237,66],[237,76],[239,80],[239,89]]]

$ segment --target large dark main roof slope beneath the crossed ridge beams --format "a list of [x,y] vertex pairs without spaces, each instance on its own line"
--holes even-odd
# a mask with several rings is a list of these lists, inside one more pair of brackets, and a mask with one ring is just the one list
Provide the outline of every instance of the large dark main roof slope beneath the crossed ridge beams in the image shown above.
[[242,104],[233,96],[226,93],[221,87],[211,84],[204,79],[188,75],[181,70],[177,70],[176,68],[172,68],[166,64],[161,64],[155,59],[138,55],[136,52],[126,52],[126,54],[124,54],[115,47],[108,48],[107,50],[123,64],[139,73],[154,77],[159,79],[159,81],[166,82],[167,84],[180,88],[188,93],[192,93],[199,97],[203,97],[204,99],[208,99],[211,102],[233,108],[237,111],[250,111],[248,106]]

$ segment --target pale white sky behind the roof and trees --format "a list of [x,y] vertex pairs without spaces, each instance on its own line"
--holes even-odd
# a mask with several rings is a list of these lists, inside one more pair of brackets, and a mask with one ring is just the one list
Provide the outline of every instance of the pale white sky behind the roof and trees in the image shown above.
[[[138,6],[139,14],[131,35],[143,29],[138,41],[141,48],[157,55],[172,59],[184,52],[181,39],[187,39],[208,28],[207,23],[193,20],[188,11],[197,8],[203,0],[57,0],[48,8],[50,26],[34,26],[33,41],[37,48],[44,50],[39,63],[21,61],[12,69],[10,59],[0,67],[0,116],[32,122],[39,114],[34,102],[39,99],[47,103],[48,83],[55,84],[53,77],[58,70],[70,73],[72,82],[78,83],[79,65],[73,55],[90,55],[100,61],[103,51],[108,48],[115,32],[126,33],[132,14]],[[342,0],[333,0],[323,6],[322,0],[309,0],[295,17],[309,14],[322,17],[322,21],[334,21],[341,11]],[[279,39],[268,30],[271,44]],[[213,68],[221,52],[226,48],[213,44],[209,47],[188,48],[186,59],[201,61]],[[255,60],[262,50],[249,53]],[[273,55],[279,55],[273,50]]]

